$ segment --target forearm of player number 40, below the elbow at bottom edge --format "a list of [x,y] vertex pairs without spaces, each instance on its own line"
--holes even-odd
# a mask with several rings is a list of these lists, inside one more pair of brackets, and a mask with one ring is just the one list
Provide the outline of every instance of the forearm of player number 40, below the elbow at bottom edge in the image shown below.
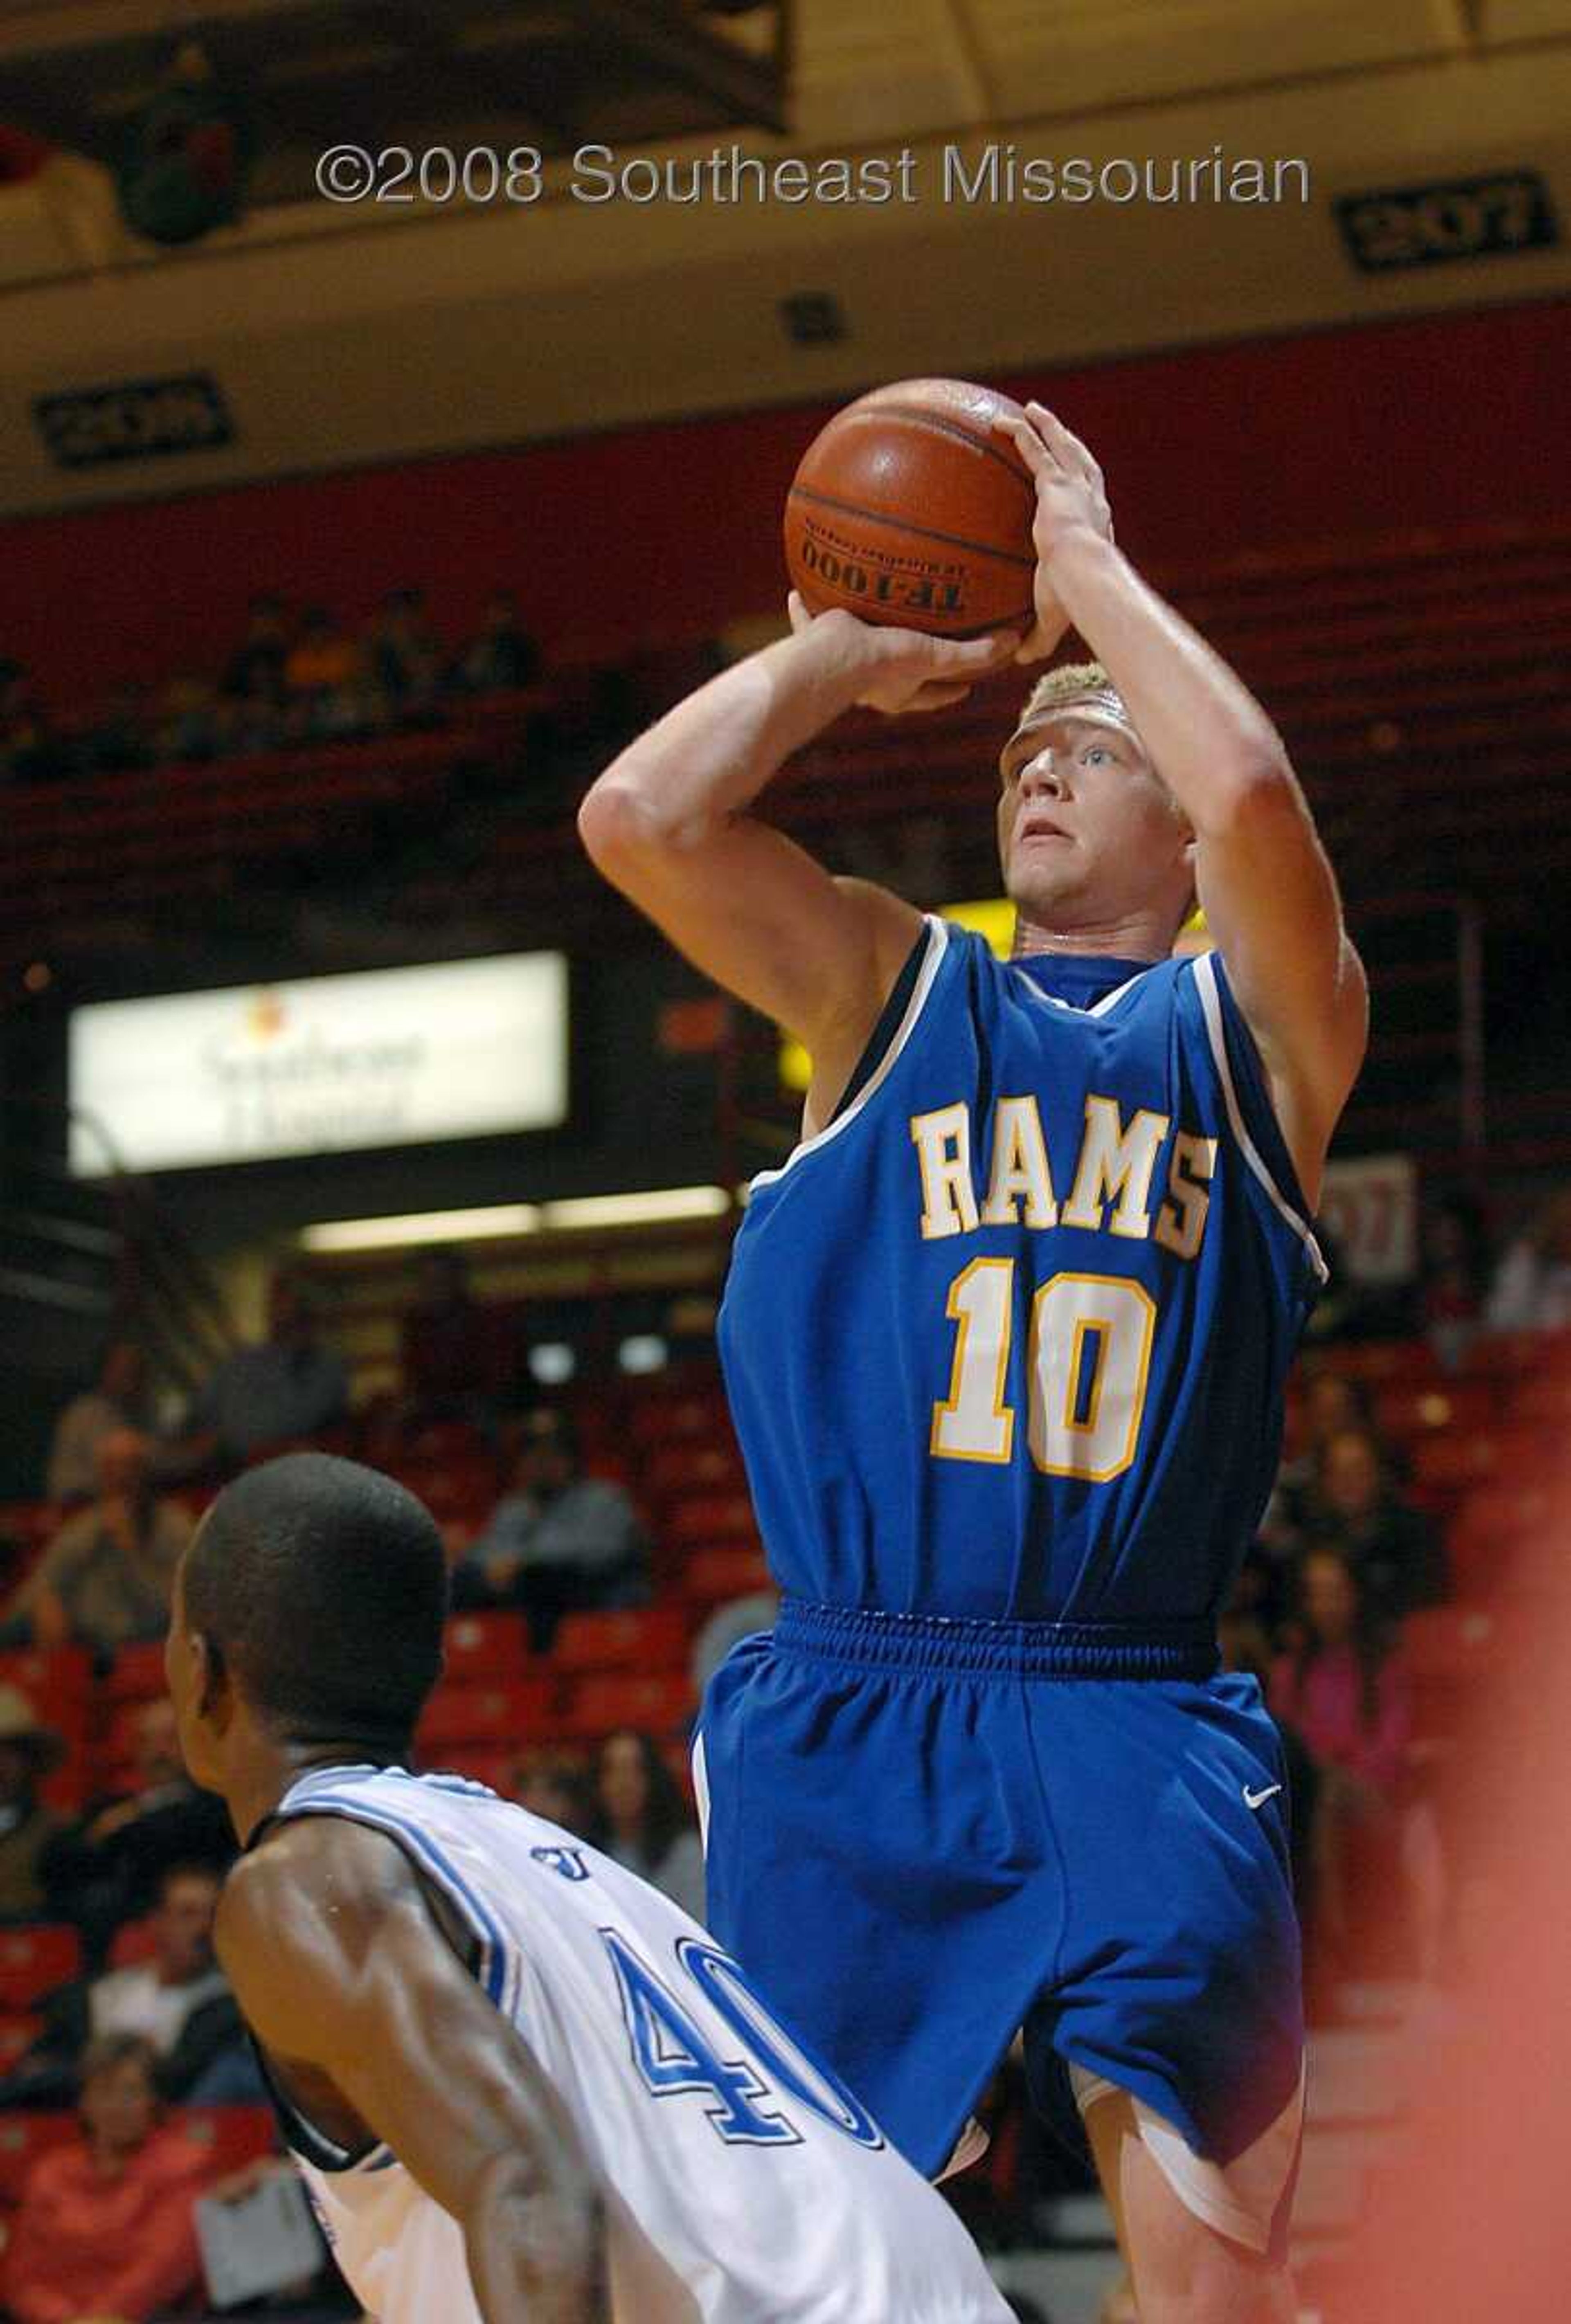
[[469,2205],[465,2257],[486,2324],[609,2324],[604,2219],[576,2175],[541,2185],[497,2164]]

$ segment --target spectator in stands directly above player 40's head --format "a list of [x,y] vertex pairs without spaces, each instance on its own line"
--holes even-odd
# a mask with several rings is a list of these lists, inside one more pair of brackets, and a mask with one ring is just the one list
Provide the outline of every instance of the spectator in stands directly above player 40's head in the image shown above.
[[200,1390],[174,1459],[184,1471],[242,1462],[321,1434],[349,1411],[344,1360],[316,1334],[316,1299],[293,1269],[267,1297],[267,1339],[225,1357]]

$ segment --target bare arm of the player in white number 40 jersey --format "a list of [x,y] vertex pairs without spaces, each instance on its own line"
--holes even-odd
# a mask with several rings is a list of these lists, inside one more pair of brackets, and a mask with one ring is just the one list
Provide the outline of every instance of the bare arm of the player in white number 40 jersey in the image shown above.
[[460,2222],[486,2324],[604,2324],[572,2122],[395,1841],[342,1820],[279,1831],[230,1875],[216,1941],[270,2057],[325,2075]]

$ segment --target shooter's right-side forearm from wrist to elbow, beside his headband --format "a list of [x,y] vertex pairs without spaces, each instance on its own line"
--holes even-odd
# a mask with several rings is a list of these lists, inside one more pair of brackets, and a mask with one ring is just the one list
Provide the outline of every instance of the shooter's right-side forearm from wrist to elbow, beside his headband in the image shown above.
[[1297,797],[1283,739],[1248,686],[1111,541],[1067,535],[1050,579],[1201,837],[1232,827],[1262,790]]

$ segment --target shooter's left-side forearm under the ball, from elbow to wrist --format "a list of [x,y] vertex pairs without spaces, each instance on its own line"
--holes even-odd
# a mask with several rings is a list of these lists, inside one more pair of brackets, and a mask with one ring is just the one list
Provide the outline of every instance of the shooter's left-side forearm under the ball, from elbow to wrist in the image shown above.
[[858,630],[825,616],[700,686],[627,744],[579,809],[590,855],[693,844],[746,809],[858,700],[867,681]]

